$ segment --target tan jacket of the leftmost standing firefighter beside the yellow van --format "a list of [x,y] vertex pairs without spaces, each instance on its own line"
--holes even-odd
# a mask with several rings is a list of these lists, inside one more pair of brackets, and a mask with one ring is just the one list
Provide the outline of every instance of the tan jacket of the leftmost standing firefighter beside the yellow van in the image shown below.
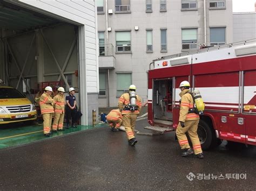
[[54,113],[53,110],[53,104],[54,100],[51,98],[51,96],[48,96],[47,94],[43,93],[40,97],[40,109],[41,109],[41,114],[51,114]]

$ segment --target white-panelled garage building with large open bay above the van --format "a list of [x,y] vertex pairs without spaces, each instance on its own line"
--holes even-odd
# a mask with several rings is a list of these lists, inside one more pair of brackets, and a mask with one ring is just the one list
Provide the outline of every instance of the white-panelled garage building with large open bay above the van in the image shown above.
[[[75,87],[82,125],[98,109],[95,1],[0,1],[0,79],[33,101],[45,86]],[[53,82],[52,82],[53,81]],[[45,82],[45,83],[42,83]]]

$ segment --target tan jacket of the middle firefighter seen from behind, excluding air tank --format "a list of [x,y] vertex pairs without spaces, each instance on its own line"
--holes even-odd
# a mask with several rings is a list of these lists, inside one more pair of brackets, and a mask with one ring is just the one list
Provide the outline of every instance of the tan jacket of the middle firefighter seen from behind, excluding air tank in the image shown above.
[[140,110],[142,110],[142,100],[141,98],[136,95],[136,105],[138,106],[138,110],[130,111],[130,110],[123,110],[125,105],[130,103],[130,94],[124,93],[118,100],[118,108],[122,111],[122,115],[125,114],[139,114]]

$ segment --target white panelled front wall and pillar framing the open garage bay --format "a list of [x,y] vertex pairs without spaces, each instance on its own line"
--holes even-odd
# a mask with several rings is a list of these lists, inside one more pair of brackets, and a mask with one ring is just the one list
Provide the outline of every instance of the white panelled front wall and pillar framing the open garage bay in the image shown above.
[[[91,103],[98,100],[98,49],[97,44],[97,20],[95,1],[29,1],[21,0],[12,3],[24,6],[53,18],[78,25],[79,39],[79,93],[81,110],[83,113],[82,124],[91,124]],[[87,94],[94,94],[89,96]],[[98,108],[98,105],[94,105]]]

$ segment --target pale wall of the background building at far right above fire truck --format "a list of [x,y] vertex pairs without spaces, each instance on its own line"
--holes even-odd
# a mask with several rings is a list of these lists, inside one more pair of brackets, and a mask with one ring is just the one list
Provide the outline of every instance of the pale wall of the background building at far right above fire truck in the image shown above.
[[256,38],[256,12],[233,13],[234,42]]

